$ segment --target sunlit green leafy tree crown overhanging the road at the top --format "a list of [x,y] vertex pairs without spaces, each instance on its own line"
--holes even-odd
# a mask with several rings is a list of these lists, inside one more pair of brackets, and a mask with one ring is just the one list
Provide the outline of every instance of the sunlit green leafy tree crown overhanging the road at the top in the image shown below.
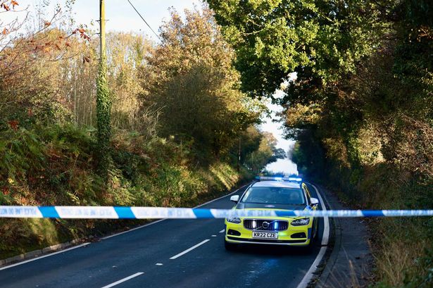
[[379,45],[372,34],[387,28],[371,1],[208,3],[237,51],[243,89],[252,96],[271,96],[291,72],[311,88],[353,73]]

